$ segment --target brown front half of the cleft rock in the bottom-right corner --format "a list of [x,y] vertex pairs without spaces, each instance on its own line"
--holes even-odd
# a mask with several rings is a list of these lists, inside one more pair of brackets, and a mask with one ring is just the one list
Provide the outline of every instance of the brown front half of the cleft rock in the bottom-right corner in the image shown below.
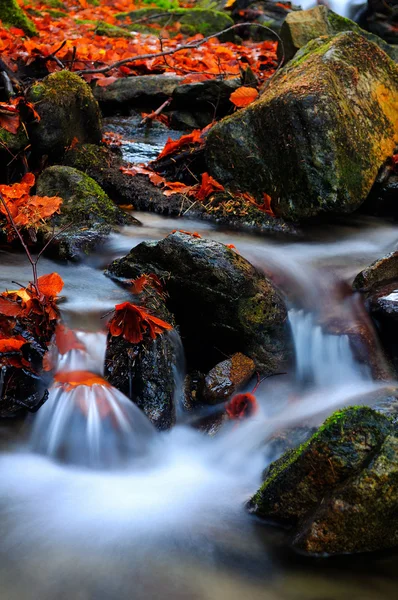
[[398,435],[388,435],[358,475],[323,502],[293,541],[309,554],[373,552],[398,545]]

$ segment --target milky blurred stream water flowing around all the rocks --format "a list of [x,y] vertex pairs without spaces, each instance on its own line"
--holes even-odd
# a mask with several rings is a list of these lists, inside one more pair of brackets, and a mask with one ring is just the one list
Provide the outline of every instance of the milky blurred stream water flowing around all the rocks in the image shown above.
[[[286,549],[287,532],[254,519],[244,505],[261,483],[264,467],[276,458],[270,444],[276,432],[317,425],[338,407],[372,404],[386,395],[386,384],[375,382],[370,367],[358,361],[346,331],[336,334],[325,323],[333,314],[345,327],[363,321],[361,303],[341,294],[342,282],[351,282],[361,268],[396,249],[398,226],[352,218],[309,230],[303,240],[136,216],[142,227],[126,227],[78,265],[40,261],[40,274],[57,271],[63,278],[62,316],[86,347],[63,357],[69,368],[101,372],[101,317],[131,299],[104,276],[104,267],[141,241],[161,239],[177,228],[233,243],[279,282],[290,307],[295,372],[265,381],[256,393],[260,410],[214,437],[191,427],[181,411],[177,425],[159,433],[122,394],[100,383],[78,397],[77,388],[52,390],[23,425],[3,421],[0,597],[395,597],[397,554],[301,557]],[[1,289],[31,278],[22,254],[2,251],[0,261]],[[176,385],[183,369],[181,361]]]

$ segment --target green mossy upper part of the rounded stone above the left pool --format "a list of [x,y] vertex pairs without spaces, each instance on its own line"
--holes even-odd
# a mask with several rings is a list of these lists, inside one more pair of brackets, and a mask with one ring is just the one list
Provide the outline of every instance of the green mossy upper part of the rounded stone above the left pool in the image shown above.
[[73,167],[54,165],[45,169],[37,181],[37,194],[62,198],[61,214],[55,217],[61,225],[93,223],[115,228],[135,222],[109,199],[94,179]]

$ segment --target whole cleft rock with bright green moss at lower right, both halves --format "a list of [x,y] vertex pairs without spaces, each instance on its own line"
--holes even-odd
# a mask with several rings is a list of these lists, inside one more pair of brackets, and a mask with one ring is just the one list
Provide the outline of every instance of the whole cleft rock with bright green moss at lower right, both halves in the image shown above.
[[366,552],[398,542],[398,437],[366,407],[334,413],[271,465],[250,510],[293,527],[309,554]]

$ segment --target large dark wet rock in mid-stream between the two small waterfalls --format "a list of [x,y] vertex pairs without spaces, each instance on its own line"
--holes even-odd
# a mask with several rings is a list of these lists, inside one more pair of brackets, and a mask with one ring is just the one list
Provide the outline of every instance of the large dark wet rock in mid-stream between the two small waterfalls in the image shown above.
[[192,368],[206,372],[235,352],[266,373],[288,360],[290,331],[280,293],[223,244],[174,233],[139,244],[108,269],[117,279],[142,273],[155,273],[164,282]]

